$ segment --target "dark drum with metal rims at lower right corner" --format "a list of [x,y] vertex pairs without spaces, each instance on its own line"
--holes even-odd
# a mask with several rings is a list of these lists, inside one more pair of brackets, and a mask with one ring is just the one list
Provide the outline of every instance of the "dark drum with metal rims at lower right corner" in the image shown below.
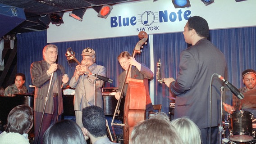
[[234,111],[229,114],[230,136],[229,139],[237,142],[253,140],[252,119],[253,114],[247,111]]

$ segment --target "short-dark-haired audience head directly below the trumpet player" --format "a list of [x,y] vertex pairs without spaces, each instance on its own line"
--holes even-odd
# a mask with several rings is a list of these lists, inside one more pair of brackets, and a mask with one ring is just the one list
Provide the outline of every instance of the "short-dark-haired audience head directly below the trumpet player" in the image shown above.
[[107,135],[105,114],[98,106],[83,108],[82,124],[95,138]]

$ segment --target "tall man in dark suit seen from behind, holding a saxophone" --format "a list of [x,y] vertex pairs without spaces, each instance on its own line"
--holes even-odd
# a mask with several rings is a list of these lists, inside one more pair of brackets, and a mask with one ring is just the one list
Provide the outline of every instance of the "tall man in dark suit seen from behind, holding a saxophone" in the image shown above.
[[170,92],[176,95],[174,119],[189,117],[201,130],[203,144],[209,144],[210,130],[211,144],[217,144],[220,88],[223,82],[213,75],[218,73],[225,77],[224,54],[207,40],[209,27],[204,18],[189,18],[183,35],[192,46],[181,52],[177,79],[164,79]]

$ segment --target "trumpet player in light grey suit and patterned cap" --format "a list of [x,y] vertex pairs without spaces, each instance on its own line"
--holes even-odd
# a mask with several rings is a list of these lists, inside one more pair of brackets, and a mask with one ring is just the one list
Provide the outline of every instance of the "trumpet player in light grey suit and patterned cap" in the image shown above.
[[[70,80],[69,86],[75,88],[74,110],[76,122],[82,128],[82,109],[94,105],[94,94],[96,96],[96,105],[103,107],[101,87],[104,83],[102,80],[96,80],[97,77],[90,73],[106,76],[106,68],[95,63],[96,54],[91,48],[82,50],[81,65],[77,65],[74,75]],[[94,80],[96,80],[94,91]]]

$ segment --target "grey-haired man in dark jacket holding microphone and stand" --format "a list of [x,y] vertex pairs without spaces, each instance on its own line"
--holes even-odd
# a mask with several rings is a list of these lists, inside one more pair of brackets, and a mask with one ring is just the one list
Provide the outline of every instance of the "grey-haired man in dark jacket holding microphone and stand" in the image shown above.
[[[64,67],[55,63],[57,56],[58,47],[56,45],[46,45],[43,49],[44,60],[32,63],[30,68],[32,84],[36,86],[34,127],[35,140],[36,142],[38,141],[38,144],[42,143],[46,129],[53,123],[61,120],[61,114],[63,113],[62,87],[66,87],[69,77],[64,76]],[[48,100],[46,100],[48,91]],[[41,122],[44,108],[45,112]],[[39,131],[40,124],[41,130]],[[39,136],[38,132],[40,132]]]

